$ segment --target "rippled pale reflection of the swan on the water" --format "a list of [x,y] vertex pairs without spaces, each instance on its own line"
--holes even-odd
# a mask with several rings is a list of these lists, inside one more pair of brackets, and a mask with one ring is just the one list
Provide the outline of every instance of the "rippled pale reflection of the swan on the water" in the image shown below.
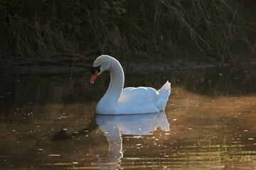
[[[118,163],[123,157],[121,135],[151,135],[156,128],[169,131],[170,126],[164,111],[141,115],[96,115],[96,123],[109,142],[107,164]],[[98,166],[104,164],[107,165],[98,162]]]

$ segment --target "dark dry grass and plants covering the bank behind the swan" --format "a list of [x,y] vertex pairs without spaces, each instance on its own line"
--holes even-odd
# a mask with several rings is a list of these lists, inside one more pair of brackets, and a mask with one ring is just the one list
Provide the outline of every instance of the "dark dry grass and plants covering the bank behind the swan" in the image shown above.
[[255,20],[238,0],[2,0],[0,13],[2,63],[101,54],[170,64],[255,61]]

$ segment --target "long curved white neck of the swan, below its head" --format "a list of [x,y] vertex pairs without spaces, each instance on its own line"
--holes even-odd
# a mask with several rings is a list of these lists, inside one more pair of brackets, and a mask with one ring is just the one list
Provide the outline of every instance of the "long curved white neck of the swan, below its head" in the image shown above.
[[124,88],[124,71],[117,60],[110,60],[110,86],[102,99],[110,104],[116,104]]

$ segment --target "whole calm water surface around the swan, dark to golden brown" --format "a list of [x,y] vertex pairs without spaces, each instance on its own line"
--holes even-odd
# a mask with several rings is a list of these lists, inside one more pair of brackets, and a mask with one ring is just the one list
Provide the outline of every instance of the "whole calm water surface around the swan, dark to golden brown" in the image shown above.
[[256,169],[256,68],[127,73],[171,81],[165,112],[96,115],[110,80],[1,76],[0,169]]

